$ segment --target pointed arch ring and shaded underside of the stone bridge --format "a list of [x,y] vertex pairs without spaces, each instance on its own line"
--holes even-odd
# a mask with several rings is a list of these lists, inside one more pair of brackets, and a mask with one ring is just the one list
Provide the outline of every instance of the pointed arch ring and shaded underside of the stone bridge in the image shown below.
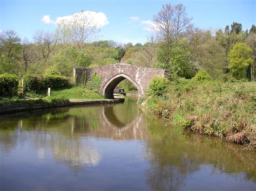
[[116,88],[116,86],[118,85],[118,83],[122,82],[123,80],[129,80],[133,86],[135,86],[138,90],[138,96],[142,96],[143,95],[143,89],[142,87],[137,84],[136,81],[134,81],[133,79],[131,79],[131,77],[127,76],[126,74],[118,74],[116,76],[113,76],[109,81],[107,81],[107,83],[104,85],[103,87],[103,94],[105,95],[106,98],[112,99],[114,98],[113,96],[113,91],[114,88]]

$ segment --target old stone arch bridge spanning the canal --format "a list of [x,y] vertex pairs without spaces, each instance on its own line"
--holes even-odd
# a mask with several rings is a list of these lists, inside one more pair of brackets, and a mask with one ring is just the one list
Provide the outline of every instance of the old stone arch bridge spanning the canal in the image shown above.
[[102,83],[99,93],[107,98],[113,98],[113,90],[118,83],[127,79],[138,90],[138,96],[145,94],[149,82],[154,76],[166,76],[169,78],[165,70],[149,68],[143,66],[129,65],[127,63],[117,63],[114,65],[106,65],[92,68],[74,68],[73,77],[79,84],[83,83],[83,74],[86,72],[86,83],[90,83],[91,75],[96,73],[102,76]]

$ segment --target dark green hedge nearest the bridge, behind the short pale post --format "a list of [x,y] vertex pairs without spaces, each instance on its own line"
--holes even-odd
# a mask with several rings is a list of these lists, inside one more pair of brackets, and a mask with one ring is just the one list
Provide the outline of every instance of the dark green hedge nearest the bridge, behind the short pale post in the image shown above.
[[47,88],[64,88],[69,87],[68,77],[60,75],[34,75],[27,74],[24,76],[24,91],[30,93],[39,93]]

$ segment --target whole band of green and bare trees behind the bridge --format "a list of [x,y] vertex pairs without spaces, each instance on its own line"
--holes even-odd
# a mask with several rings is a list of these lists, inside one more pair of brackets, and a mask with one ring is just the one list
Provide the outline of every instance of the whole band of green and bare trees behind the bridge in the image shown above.
[[94,41],[100,32],[87,18],[60,21],[55,32],[36,31],[33,42],[13,30],[0,34],[0,74],[72,76],[74,67],[113,63],[156,67],[171,76],[192,78],[205,69],[214,80],[255,81],[256,27],[233,22],[213,32],[194,26],[182,4],[165,4],[153,17],[152,36],[144,45]]

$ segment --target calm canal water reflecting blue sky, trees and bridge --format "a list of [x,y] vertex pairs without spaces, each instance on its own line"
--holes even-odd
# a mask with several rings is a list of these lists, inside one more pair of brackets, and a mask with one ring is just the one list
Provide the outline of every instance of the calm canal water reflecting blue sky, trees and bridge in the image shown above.
[[256,190],[256,152],[125,103],[0,118],[0,190]]

